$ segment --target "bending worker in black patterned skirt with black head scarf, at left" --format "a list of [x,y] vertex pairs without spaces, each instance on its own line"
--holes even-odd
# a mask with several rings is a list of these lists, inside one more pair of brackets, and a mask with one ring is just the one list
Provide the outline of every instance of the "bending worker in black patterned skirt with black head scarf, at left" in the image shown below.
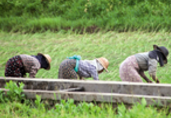
[[51,57],[48,54],[37,55],[21,54],[10,58],[5,67],[6,77],[25,77],[29,73],[30,78],[35,78],[39,69],[50,69]]

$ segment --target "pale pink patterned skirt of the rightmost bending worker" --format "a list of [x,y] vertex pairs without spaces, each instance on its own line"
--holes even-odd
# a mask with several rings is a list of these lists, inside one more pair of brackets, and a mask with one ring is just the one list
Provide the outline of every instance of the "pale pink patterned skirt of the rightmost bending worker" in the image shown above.
[[143,82],[139,74],[139,66],[135,56],[125,59],[119,68],[119,75],[122,81]]

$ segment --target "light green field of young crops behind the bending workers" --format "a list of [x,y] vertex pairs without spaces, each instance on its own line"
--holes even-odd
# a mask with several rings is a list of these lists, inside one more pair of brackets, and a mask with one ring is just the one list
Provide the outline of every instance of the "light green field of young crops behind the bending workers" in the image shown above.
[[[0,76],[4,76],[7,60],[15,55],[36,55],[47,53],[52,58],[51,70],[41,69],[37,78],[57,79],[60,63],[69,56],[81,55],[82,59],[106,57],[109,62],[109,73],[99,75],[100,80],[121,81],[119,65],[128,56],[153,49],[153,44],[166,46],[171,50],[171,34],[167,32],[99,32],[94,34],[67,33],[5,33],[0,32]],[[158,67],[157,76],[161,83],[171,83],[170,55],[165,67]],[[148,76],[148,72],[146,72]],[[149,76],[148,76],[149,77]],[[92,78],[88,78],[91,79]]]

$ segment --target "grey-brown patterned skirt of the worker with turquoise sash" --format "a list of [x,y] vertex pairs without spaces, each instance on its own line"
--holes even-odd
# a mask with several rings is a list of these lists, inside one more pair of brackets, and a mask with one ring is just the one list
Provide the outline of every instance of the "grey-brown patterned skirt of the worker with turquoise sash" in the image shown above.
[[59,67],[58,78],[59,79],[77,79],[77,73],[74,68],[76,65],[75,59],[65,59]]

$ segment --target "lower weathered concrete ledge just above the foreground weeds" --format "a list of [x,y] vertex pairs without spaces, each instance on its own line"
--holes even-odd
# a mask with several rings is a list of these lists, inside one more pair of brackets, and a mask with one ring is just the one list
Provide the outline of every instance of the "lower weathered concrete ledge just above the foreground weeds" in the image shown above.
[[[0,90],[8,91],[0,88]],[[40,95],[42,100],[68,100],[85,102],[103,102],[103,103],[124,103],[132,105],[136,102],[141,103],[142,98],[147,105],[157,105],[162,107],[171,107],[171,97],[148,96],[148,95],[128,95],[117,93],[92,93],[92,92],[59,92],[46,90],[24,90],[27,99],[36,99],[36,95]]]

